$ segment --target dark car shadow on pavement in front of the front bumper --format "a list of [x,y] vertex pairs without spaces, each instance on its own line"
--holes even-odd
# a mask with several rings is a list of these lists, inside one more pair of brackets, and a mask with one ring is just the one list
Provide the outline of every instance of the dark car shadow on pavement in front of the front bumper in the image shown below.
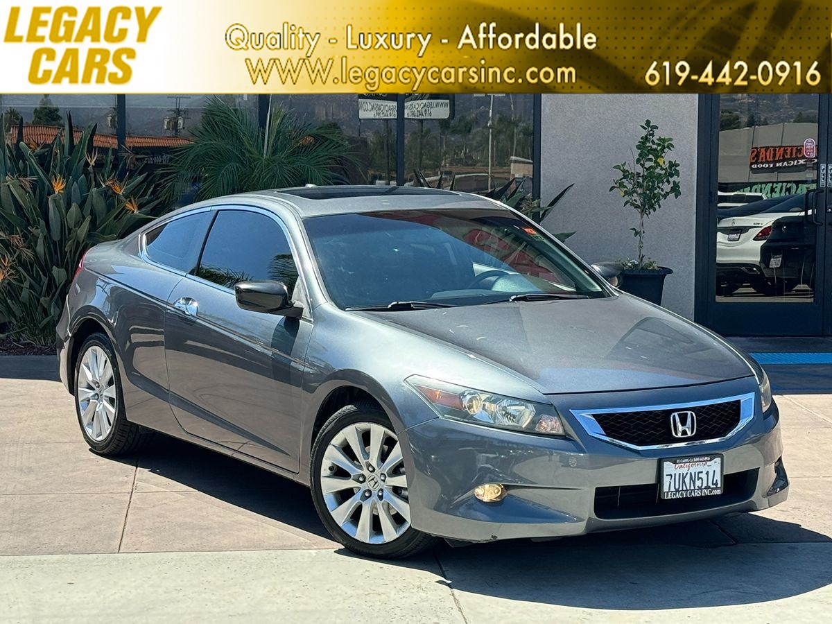
[[[765,525],[790,525],[750,518],[768,534],[776,532],[776,527]],[[683,532],[699,524],[674,526]],[[829,541],[826,536],[806,533],[814,542]],[[445,548],[438,552],[438,560],[446,584],[468,597],[588,609],[745,605],[796,597],[832,584],[829,544],[712,547],[672,544],[666,537],[655,529],[640,529],[559,542],[498,542]]]

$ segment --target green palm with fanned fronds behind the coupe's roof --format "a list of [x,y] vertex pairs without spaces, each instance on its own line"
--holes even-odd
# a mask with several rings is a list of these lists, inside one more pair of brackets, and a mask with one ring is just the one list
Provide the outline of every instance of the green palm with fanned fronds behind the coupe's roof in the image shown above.
[[261,128],[249,111],[212,98],[191,142],[177,147],[166,167],[168,196],[200,183],[196,200],[245,191],[329,184],[339,168],[354,162],[337,126],[305,124],[280,108],[271,108]]

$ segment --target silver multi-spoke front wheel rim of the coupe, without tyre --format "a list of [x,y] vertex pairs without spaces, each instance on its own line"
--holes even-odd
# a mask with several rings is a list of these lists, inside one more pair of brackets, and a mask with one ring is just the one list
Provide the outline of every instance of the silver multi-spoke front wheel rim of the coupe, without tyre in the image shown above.
[[399,438],[378,423],[351,423],[324,451],[320,489],[329,515],[359,542],[392,542],[410,526]]

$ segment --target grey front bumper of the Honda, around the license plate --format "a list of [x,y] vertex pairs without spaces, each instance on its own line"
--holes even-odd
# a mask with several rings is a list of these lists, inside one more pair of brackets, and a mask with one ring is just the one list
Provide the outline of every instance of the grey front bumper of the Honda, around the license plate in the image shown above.
[[[714,387],[725,385],[711,384],[706,392],[720,392]],[[727,385],[726,391],[734,392],[740,384]],[[690,395],[691,389],[669,394],[679,397],[684,390]],[[701,389],[694,391],[694,399],[701,399]],[[626,395],[643,400],[643,393],[616,395],[625,403]],[[788,496],[778,419],[776,406],[765,416],[757,407],[750,423],[724,442],[635,450],[592,438],[571,417],[566,421],[573,438],[434,418],[407,430],[415,468],[409,483],[411,521],[440,537],[488,542],[581,535],[769,508]],[[723,457],[723,494],[657,500],[661,458],[709,453]],[[473,488],[482,483],[503,483],[508,495],[499,503],[483,503],[473,497]]]

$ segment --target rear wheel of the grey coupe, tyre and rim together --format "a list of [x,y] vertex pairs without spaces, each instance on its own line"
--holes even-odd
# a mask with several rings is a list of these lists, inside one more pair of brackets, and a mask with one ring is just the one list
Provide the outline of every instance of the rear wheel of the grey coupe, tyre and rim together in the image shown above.
[[152,435],[126,418],[116,355],[105,334],[92,334],[81,346],[75,365],[75,409],[84,440],[101,455],[131,453]]

